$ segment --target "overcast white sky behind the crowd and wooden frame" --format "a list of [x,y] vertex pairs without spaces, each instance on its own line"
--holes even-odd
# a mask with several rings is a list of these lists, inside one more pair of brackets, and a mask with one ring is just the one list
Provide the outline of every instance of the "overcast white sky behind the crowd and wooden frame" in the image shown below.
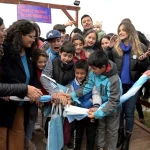
[[[74,0],[32,0],[47,3],[73,5]],[[81,26],[81,17],[88,14],[93,22],[101,21],[103,30],[106,33],[117,32],[120,21],[124,18],[130,18],[137,30],[150,34],[149,0],[80,0],[79,28]],[[74,17],[75,13],[69,11]],[[63,24],[68,18],[59,9],[52,9],[52,24],[38,23],[45,38],[46,33],[50,31],[55,24]],[[4,19],[6,28],[17,20],[17,6],[11,4],[0,4],[0,16]],[[67,33],[70,33],[75,26],[67,27]]]

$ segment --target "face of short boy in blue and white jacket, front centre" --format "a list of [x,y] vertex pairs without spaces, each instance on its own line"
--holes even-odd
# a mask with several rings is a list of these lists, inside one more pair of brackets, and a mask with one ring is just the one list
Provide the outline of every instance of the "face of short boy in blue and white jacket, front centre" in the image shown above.
[[77,79],[78,82],[82,82],[83,80],[85,80],[87,76],[87,73],[84,69],[75,69],[75,77]]

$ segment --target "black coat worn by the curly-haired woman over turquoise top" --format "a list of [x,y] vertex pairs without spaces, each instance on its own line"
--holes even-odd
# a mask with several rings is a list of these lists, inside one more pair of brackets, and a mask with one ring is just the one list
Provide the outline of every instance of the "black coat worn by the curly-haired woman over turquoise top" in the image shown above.
[[[21,58],[11,57],[11,48],[9,43],[4,43],[4,56],[2,59],[4,75],[3,82],[5,83],[25,83],[26,74],[23,67]],[[33,63],[30,54],[27,52],[27,62],[30,72],[30,85],[33,85]],[[20,93],[19,97],[24,98],[26,94]],[[28,106],[28,102],[25,102],[25,106]],[[16,109],[18,107],[18,102],[0,100],[0,127],[11,127],[13,119],[15,116]],[[25,110],[27,110],[26,107]]]

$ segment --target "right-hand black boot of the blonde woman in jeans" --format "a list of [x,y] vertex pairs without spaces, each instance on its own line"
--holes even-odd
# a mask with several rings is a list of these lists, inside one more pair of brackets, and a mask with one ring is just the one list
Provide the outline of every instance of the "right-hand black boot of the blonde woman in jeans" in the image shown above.
[[131,135],[132,135],[132,132],[126,131],[125,139],[122,144],[121,150],[129,150],[129,142],[130,142]]

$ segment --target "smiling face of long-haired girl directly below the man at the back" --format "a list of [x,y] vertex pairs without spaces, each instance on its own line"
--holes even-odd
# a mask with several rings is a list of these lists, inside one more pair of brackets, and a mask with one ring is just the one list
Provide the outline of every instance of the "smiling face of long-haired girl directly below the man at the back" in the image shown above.
[[85,46],[93,46],[96,43],[96,34],[95,33],[89,33],[85,37]]

